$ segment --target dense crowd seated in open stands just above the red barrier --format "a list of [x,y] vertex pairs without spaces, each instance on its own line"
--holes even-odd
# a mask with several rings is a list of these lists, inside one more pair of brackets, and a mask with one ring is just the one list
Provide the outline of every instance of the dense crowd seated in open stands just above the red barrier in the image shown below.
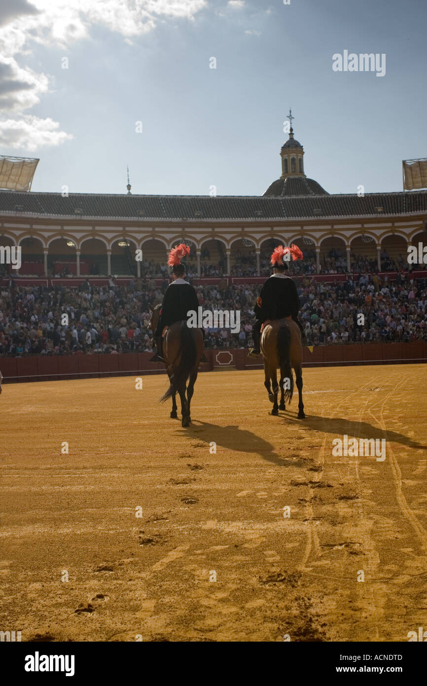
[[[164,274],[166,276],[166,274]],[[0,289],[0,355],[67,355],[152,351],[150,307],[162,302],[168,281],[131,280],[126,287],[19,285]],[[341,283],[297,282],[306,344],[427,340],[427,280],[406,272],[361,274]],[[252,346],[260,284],[196,285],[204,310],[239,310],[241,331],[206,329],[207,348]],[[363,316],[363,318],[361,318]],[[68,320],[68,324],[67,324]]]

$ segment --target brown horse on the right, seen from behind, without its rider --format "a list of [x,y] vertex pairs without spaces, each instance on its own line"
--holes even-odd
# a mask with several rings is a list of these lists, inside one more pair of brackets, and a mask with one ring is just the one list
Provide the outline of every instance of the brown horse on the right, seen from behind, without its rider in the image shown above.
[[[302,344],[300,327],[292,319],[276,319],[263,328],[261,336],[261,353],[264,358],[265,382],[269,400],[273,403],[271,414],[286,410],[285,401],[291,403],[293,396],[293,376],[295,370],[298,389],[298,419],[304,419],[302,402]],[[280,368],[280,405],[278,405],[277,368]],[[286,388],[284,382],[286,381]],[[271,384],[273,388],[271,389]]]

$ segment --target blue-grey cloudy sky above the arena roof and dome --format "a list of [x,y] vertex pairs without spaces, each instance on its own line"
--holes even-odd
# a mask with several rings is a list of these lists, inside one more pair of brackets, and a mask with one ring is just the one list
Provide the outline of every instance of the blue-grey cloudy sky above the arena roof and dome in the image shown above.
[[[292,108],[306,176],[402,191],[426,23],[426,0],[2,0],[0,154],[40,158],[32,191],[126,193],[128,165],[132,193],[260,196]],[[385,75],[334,71],[345,50]]]

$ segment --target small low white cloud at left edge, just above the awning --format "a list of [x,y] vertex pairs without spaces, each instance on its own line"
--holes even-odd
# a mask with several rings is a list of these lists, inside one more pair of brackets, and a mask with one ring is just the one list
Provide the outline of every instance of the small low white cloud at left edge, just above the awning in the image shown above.
[[24,115],[19,121],[0,121],[0,145],[34,152],[44,145],[60,145],[73,138],[71,134],[58,130],[59,126],[58,121],[33,115]]

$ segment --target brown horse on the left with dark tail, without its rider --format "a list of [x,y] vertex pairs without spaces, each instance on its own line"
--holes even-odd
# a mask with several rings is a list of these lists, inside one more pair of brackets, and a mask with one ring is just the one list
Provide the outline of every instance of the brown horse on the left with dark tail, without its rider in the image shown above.
[[[150,328],[156,331],[161,305],[151,309]],[[201,329],[191,329],[186,320],[175,322],[168,327],[163,339],[163,359],[166,363],[169,377],[169,388],[160,398],[164,403],[172,398],[171,418],[178,418],[175,396],[180,394],[182,426],[188,427],[191,422],[190,403],[193,397],[194,384],[197,379],[197,369],[203,355],[204,342]],[[188,381],[188,387],[186,383]]]

